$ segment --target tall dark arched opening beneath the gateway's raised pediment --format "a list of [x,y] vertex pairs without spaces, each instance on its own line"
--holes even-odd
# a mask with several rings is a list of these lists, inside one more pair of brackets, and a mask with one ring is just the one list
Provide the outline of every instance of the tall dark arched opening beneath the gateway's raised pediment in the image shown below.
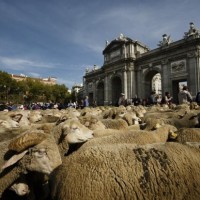
[[118,99],[120,97],[120,94],[122,93],[122,81],[121,78],[118,76],[115,76],[112,78],[111,81],[112,85],[112,105],[118,105]]

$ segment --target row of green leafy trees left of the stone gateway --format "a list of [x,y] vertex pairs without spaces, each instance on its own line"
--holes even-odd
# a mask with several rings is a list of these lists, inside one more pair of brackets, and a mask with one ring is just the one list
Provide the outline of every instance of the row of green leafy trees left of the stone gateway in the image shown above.
[[0,101],[13,103],[59,102],[66,103],[71,98],[68,88],[62,85],[48,85],[26,78],[16,81],[10,74],[0,71]]

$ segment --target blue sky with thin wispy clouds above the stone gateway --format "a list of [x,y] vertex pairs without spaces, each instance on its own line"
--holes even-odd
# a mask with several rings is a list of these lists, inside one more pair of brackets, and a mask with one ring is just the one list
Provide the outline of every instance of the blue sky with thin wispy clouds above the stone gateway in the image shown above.
[[200,28],[199,10],[199,0],[0,0],[0,70],[71,89],[103,65],[106,40],[123,33],[155,49],[164,33]]

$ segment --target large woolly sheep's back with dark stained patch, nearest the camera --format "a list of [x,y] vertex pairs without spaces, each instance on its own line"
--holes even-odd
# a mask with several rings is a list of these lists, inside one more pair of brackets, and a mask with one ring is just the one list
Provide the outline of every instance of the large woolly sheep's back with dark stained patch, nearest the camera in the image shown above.
[[53,200],[199,199],[200,149],[179,143],[98,145],[66,157]]

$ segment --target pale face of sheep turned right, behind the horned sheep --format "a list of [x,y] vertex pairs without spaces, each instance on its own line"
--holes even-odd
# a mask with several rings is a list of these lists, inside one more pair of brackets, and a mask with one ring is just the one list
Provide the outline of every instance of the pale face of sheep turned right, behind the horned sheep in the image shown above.
[[69,144],[86,142],[93,138],[93,131],[77,120],[67,120],[63,123],[65,139]]

